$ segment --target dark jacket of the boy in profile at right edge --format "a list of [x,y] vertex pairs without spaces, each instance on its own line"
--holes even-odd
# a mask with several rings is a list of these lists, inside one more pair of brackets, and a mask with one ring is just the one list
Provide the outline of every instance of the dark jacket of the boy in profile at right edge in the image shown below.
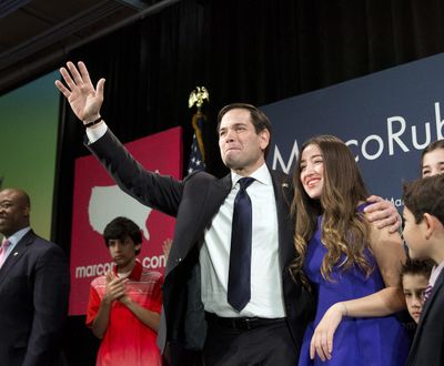
[[424,304],[410,349],[408,366],[444,365],[444,271]]

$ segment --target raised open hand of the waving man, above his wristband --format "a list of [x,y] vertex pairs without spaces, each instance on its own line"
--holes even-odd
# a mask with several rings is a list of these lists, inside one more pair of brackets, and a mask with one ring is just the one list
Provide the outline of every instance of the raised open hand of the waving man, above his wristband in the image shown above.
[[99,119],[104,79],[100,79],[94,89],[82,61],[78,63],[78,68],[69,61],[67,68],[61,68],[60,73],[68,88],[59,80],[56,81],[56,87],[68,99],[72,111],[84,124]]

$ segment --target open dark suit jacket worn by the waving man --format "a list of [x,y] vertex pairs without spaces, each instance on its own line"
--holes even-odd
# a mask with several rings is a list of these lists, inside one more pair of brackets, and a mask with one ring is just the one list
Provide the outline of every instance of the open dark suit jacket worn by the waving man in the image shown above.
[[[145,171],[124,150],[110,130],[89,145],[119,186],[147,204],[175,216],[174,242],[168,258],[163,285],[163,312],[158,344],[180,343],[201,349],[206,335],[201,302],[199,251],[204,230],[211,224],[231,190],[231,175],[221,180],[204,172],[176,181]],[[293,189],[287,176],[271,172],[279,220],[279,254],[287,324],[296,349],[313,308],[312,297],[290,276],[293,261],[293,221],[290,215]]]

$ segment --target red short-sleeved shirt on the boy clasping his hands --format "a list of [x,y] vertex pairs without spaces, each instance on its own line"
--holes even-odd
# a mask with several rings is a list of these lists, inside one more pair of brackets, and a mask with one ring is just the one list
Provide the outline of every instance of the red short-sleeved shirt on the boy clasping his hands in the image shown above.
[[[117,274],[117,268],[114,267]],[[163,277],[158,272],[143,268],[140,262],[125,284],[127,296],[144,308],[160,313],[162,307],[161,285]],[[105,276],[91,282],[87,311],[87,325],[92,326],[107,287]],[[157,333],[139,321],[122,303],[111,305],[107,332],[100,344],[95,365],[139,366],[162,365],[162,356],[155,344]]]

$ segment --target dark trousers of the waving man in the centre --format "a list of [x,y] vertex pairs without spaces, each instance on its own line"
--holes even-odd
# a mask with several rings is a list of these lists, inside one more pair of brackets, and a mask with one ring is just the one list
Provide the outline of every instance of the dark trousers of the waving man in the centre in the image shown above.
[[203,360],[205,366],[294,366],[297,349],[285,319],[252,329],[210,321]]

